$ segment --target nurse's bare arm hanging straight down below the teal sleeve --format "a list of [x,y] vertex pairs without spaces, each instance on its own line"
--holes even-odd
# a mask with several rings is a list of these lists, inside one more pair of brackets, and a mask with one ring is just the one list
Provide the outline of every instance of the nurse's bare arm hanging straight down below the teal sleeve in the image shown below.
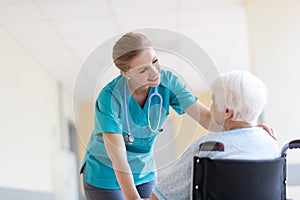
[[121,134],[103,133],[104,145],[112,162],[118,183],[126,199],[140,199],[127,162],[126,148]]

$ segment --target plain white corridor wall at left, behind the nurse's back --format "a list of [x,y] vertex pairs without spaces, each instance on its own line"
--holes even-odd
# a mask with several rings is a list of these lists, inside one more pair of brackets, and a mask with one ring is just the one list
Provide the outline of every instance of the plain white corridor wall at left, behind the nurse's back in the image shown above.
[[0,44],[0,187],[67,199],[61,186],[72,157],[66,129],[72,100],[1,27]]

